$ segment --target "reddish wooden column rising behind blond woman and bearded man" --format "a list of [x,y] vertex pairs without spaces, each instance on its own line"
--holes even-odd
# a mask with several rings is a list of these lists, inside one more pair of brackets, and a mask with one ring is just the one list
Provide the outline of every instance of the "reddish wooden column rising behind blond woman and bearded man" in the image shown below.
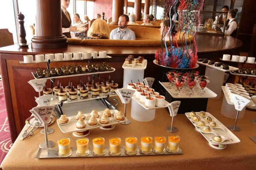
[[123,0],[113,0],[112,7],[112,22],[111,24],[117,25],[120,15],[124,14],[124,1]]

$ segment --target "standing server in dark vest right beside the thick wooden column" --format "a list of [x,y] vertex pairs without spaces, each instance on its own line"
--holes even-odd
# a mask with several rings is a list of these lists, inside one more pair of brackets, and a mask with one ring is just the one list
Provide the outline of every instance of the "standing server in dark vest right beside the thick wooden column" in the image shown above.
[[71,38],[70,31],[76,31],[76,27],[72,26],[72,19],[67,8],[70,4],[70,0],[61,0],[61,23],[62,23],[62,34],[67,38]]

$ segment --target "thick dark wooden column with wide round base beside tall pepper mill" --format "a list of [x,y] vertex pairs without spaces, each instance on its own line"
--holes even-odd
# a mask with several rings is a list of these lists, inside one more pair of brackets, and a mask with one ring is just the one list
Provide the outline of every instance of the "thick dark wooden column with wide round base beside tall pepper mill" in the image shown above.
[[31,47],[40,49],[65,48],[67,37],[62,34],[61,1],[36,0],[36,35]]

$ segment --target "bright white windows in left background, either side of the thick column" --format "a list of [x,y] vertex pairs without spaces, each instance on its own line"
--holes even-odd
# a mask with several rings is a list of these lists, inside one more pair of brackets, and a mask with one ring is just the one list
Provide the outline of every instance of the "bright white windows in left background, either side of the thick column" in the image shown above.
[[[0,6],[0,23],[3,23],[0,25],[0,28],[8,28],[9,31],[13,34],[13,40],[14,43],[19,42],[19,23],[16,22],[18,21],[17,19],[17,14],[18,11],[15,9],[14,2],[16,0],[6,0],[4,5]],[[74,10],[73,8],[73,2],[75,0],[70,0],[70,5],[69,8],[67,9],[70,14],[73,14],[74,11],[76,13],[79,13],[81,20],[83,20],[84,15],[86,14],[89,16],[89,18],[92,20],[93,19],[93,6],[94,2],[93,1],[83,1],[83,0],[76,0],[76,9]],[[32,34],[31,34],[31,29],[29,28],[30,25],[35,24],[35,14],[36,8],[32,8],[33,6],[36,6],[36,1],[35,0],[17,0],[17,6],[19,8],[19,12],[24,14],[24,27],[26,30],[26,40],[28,43],[31,43],[32,39]],[[85,10],[85,6],[87,3],[87,10]],[[29,6],[28,6],[29,4]],[[73,15],[71,15],[73,17]],[[17,29],[16,29],[16,24],[17,24]]]

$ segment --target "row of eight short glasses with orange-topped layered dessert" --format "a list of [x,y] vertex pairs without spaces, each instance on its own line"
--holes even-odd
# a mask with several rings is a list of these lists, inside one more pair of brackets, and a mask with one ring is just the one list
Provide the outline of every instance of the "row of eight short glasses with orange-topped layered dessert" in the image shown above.
[[[105,139],[103,137],[95,137],[92,140],[93,142],[93,156],[104,156],[105,155]],[[150,136],[142,136],[140,139],[140,153],[149,155],[152,152],[157,154],[163,154],[166,150],[169,153],[177,153],[179,151],[179,142],[180,137],[177,135],[168,136],[168,144],[166,144],[165,136],[155,136],[154,137],[154,147],[152,149],[153,139]],[[79,138],[76,139],[76,155],[77,156],[87,156],[89,151],[89,139],[88,138]],[[67,157],[72,154],[70,148],[70,139],[62,138],[58,140],[58,155],[60,157]],[[111,137],[109,139],[109,150],[108,154],[110,156],[119,156],[121,155],[121,139],[119,137]],[[129,136],[125,138],[125,150],[126,155],[136,155],[137,154],[137,138],[134,136]]]

